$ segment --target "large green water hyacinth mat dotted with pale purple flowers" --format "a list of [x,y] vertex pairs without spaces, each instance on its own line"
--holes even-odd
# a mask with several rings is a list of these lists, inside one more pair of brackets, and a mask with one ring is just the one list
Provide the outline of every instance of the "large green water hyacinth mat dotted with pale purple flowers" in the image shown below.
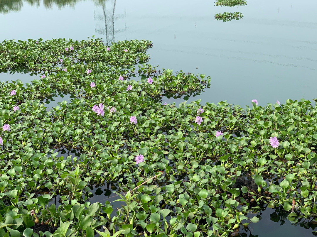
[[[229,236],[263,208],[316,217],[317,107],[162,105],[210,79],[158,71],[151,46],[0,43],[0,70],[41,75],[0,83],[0,236]],[[56,92],[74,98],[47,110]],[[124,204],[90,202],[104,183]]]

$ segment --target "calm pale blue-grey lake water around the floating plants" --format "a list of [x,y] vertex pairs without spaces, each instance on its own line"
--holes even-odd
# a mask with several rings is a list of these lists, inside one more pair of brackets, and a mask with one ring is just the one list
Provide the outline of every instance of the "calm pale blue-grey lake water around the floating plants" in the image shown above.
[[[232,8],[214,6],[214,2],[3,0],[0,41],[84,40],[92,35],[107,44],[146,39],[153,42],[148,50],[153,66],[211,76],[210,88],[189,101],[227,100],[244,107],[252,99],[264,106],[276,100],[317,97],[317,1],[248,1],[246,6]],[[226,11],[244,16],[238,21],[215,20],[216,13]],[[0,74],[0,81],[39,78]],[[178,104],[183,99],[164,101]],[[283,217],[281,225],[282,221],[269,221],[272,212],[265,211],[259,223],[249,225],[249,233],[241,231],[246,233],[242,236],[314,236],[316,225],[305,224],[311,220],[302,221],[300,228]]]

